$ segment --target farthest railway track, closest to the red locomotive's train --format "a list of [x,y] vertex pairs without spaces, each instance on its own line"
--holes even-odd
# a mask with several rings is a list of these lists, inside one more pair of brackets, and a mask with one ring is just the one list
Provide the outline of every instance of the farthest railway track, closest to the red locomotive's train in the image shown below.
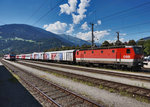
[[60,68],[73,69],[73,70],[79,70],[79,71],[84,71],[84,72],[105,74],[105,75],[118,76],[118,77],[124,77],[124,78],[129,78],[129,79],[136,79],[136,80],[150,82],[150,77],[148,76],[117,73],[117,72],[95,70],[95,69],[86,69],[86,68],[81,68],[81,67],[76,67],[76,66],[68,66],[68,65],[66,66],[62,64],[46,63],[46,62],[39,62],[39,61],[27,61],[26,60],[25,62],[31,62],[31,63],[41,64],[41,65],[49,65],[49,66],[55,66],[55,67],[60,67]]

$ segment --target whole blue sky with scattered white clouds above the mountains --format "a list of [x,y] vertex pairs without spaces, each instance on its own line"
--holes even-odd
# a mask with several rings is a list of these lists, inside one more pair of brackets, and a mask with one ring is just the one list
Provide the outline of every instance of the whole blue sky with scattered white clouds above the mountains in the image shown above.
[[122,41],[138,40],[150,36],[150,0],[0,0],[0,25],[14,23],[87,41],[94,23],[98,43],[118,31]]

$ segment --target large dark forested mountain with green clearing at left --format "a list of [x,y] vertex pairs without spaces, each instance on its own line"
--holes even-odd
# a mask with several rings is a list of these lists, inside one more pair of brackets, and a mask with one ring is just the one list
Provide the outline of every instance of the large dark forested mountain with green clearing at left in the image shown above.
[[[74,41],[76,41],[76,39],[77,38],[74,38]],[[30,53],[73,45],[77,44],[60,35],[38,27],[25,24],[8,24],[0,26],[0,54],[11,52],[16,54]]]

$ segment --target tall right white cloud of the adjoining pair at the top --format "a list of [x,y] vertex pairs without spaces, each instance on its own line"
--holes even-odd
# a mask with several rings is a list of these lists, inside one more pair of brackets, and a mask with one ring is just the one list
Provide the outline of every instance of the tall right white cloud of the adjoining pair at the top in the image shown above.
[[84,13],[87,11],[86,7],[89,6],[90,1],[91,0],[80,0],[79,8],[77,9],[78,15],[72,14],[74,24],[79,24],[80,21],[86,17]]

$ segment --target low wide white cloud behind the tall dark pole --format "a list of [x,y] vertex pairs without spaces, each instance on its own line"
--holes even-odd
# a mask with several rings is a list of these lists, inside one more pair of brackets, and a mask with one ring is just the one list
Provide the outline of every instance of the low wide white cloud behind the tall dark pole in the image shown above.
[[[94,32],[94,36],[95,36],[95,42],[100,41],[100,39],[102,39],[104,36],[109,35],[110,33],[107,30],[103,30],[103,31],[95,31]],[[86,40],[86,41],[91,41],[91,36],[92,36],[92,32],[86,32],[86,33],[82,33],[79,32],[77,33],[76,37]]]

